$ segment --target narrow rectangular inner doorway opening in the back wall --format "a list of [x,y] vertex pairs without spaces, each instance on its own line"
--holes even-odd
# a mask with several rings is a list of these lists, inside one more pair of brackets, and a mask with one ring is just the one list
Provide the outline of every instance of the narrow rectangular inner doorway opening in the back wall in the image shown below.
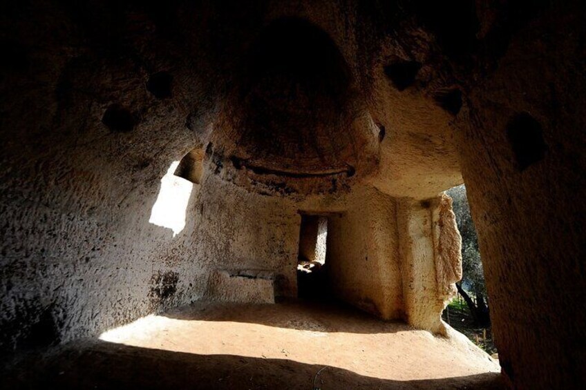
[[323,300],[328,296],[328,217],[301,214],[297,255],[297,296]]

